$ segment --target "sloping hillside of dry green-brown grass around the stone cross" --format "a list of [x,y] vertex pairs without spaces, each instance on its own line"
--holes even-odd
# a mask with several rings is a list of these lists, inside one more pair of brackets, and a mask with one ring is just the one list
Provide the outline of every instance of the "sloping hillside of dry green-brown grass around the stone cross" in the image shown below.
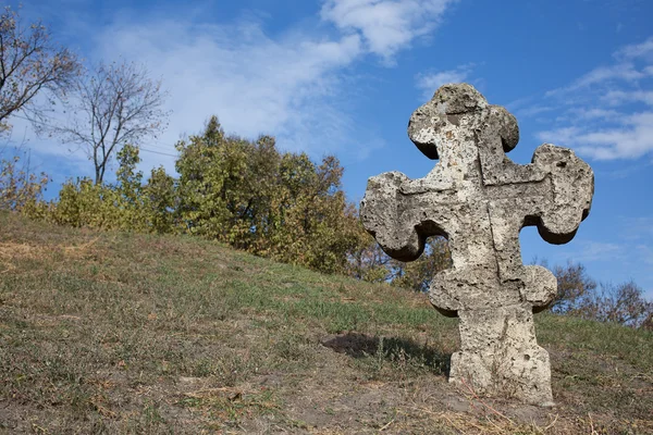
[[423,295],[0,214],[0,433],[653,433],[653,334],[537,315],[557,407],[447,384]]

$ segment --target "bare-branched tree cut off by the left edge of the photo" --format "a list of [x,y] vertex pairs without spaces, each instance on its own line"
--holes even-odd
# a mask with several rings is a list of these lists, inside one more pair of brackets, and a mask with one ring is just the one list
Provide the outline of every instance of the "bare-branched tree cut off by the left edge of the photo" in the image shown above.
[[5,7],[0,15],[0,133],[11,128],[8,119],[15,112],[42,122],[50,104],[37,104],[35,97],[42,94],[54,102],[79,71],[76,57],[53,45],[40,21],[23,25],[17,12]]

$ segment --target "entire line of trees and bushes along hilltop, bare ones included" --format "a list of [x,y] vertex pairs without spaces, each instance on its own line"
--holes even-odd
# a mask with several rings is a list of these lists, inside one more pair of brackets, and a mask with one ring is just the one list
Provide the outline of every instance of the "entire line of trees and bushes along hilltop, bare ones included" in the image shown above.
[[[69,179],[54,200],[44,201],[47,175],[32,173],[20,157],[2,159],[0,210],[76,227],[201,236],[276,261],[414,291],[427,291],[432,276],[451,266],[442,237],[430,238],[417,261],[387,257],[347,201],[334,156],[313,162],[306,153],[280,151],[270,136],[227,136],[217,116],[176,144],[175,176],[156,167],[146,177],[137,170],[138,144],[164,128],[164,97],[161,83],[144,67],[99,63],[85,69],[51,42],[40,22],[24,26],[5,8],[0,135],[7,136],[11,116],[21,114],[38,133],[83,147],[94,177]],[[70,116],[53,120],[49,112],[57,104]],[[107,183],[113,162],[115,182]],[[578,263],[553,272],[558,279],[553,312],[653,328],[653,303],[633,282],[597,285]]]

